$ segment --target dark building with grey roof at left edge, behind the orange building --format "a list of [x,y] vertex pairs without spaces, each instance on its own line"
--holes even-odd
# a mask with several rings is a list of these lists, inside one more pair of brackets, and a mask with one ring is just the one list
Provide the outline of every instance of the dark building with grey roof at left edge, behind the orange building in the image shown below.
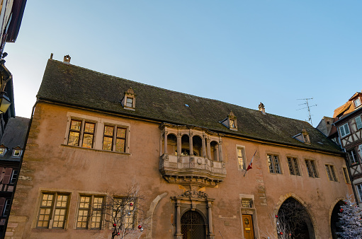
[[0,141],[0,238],[5,236],[28,125],[29,119],[27,118],[9,119]]

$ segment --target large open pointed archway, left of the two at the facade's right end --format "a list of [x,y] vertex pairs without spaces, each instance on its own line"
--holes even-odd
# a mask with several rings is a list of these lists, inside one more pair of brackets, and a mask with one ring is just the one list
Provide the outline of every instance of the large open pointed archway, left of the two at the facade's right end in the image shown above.
[[315,239],[315,229],[307,209],[293,197],[285,199],[278,209],[277,231],[295,239]]

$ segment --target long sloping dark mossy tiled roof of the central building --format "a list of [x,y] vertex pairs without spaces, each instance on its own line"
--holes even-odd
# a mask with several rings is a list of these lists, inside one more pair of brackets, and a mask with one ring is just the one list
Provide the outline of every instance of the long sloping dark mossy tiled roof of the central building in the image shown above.
[[[137,97],[135,111],[125,110],[120,104],[125,91],[130,87]],[[263,115],[259,110],[148,86],[53,59],[47,62],[37,97],[40,100],[154,119],[159,122],[205,127],[224,134],[237,134],[279,144],[341,153],[339,147],[321,132],[298,119],[268,113]],[[230,111],[237,117],[236,132],[220,123]],[[292,138],[302,132],[303,128],[310,134],[310,145]]]

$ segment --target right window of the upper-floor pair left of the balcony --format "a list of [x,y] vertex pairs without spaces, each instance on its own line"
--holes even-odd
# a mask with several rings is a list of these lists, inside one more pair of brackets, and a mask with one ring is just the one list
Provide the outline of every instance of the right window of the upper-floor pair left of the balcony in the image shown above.
[[127,128],[104,126],[103,150],[125,153],[125,136]]

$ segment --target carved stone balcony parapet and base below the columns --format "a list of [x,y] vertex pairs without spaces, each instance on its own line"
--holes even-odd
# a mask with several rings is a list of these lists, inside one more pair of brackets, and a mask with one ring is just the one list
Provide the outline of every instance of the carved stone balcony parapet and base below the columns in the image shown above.
[[226,177],[225,162],[210,161],[199,156],[160,157],[159,171],[169,183],[215,187]]

